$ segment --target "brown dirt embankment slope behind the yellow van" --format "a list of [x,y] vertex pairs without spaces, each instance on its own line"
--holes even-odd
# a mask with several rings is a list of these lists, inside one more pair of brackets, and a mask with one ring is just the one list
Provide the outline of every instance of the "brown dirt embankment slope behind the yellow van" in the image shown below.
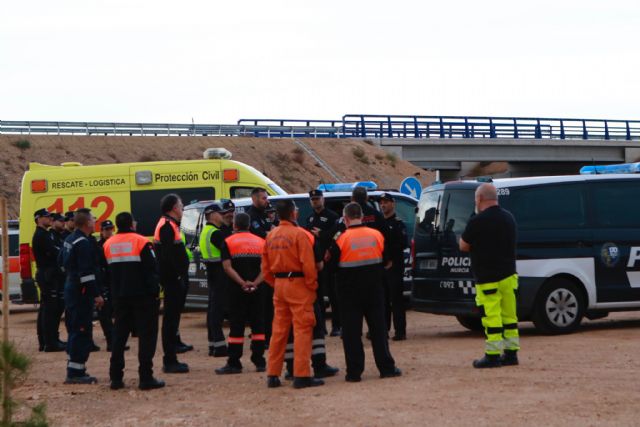
[[[29,147],[18,148],[19,141],[28,141]],[[380,188],[397,189],[405,177],[416,172],[420,172],[423,185],[435,179],[433,172],[387,155],[371,141],[314,138],[302,141],[343,182],[374,180]],[[9,215],[17,218],[22,176],[29,162],[93,165],[195,160],[202,159],[203,151],[211,147],[227,148],[234,160],[255,167],[290,193],[307,192],[318,184],[336,182],[290,138],[0,135],[0,196],[9,199]]]

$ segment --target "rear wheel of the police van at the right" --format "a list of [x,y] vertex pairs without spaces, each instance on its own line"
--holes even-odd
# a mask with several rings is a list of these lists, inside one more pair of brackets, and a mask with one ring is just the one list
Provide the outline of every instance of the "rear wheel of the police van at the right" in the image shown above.
[[567,279],[550,280],[538,294],[533,324],[545,334],[573,332],[582,321],[585,302],[580,289]]

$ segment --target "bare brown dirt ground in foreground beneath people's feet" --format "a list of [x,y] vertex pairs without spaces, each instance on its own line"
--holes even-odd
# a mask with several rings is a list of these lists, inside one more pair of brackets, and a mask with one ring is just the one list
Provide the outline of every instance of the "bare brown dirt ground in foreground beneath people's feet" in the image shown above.
[[[154,359],[162,390],[137,389],[137,343],[127,352],[126,388],[111,391],[108,353],[92,353],[89,371],[99,384],[63,385],[65,356],[38,353],[35,313],[12,314],[12,337],[33,358],[17,397],[46,402],[59,426],[191,425],[638,425],[640,393],[640,313],[612,314],[585,321],[579,332],[542,336],[522,324],[520,366],[475,370],[482,337],[452,317],[409,312],[408,340],[391,341],[403,376],[379,379],[365,343],[367,368],[361,383],[344,381],[339,338],[327,337],[329,363],[341,372],[323,387],[295,390],[288,382],[267,389],[245,356],[245,372],[217,376],[224,359],[207,356],[205,315],[184,315],[181,332],[195,351],[182,356],[191,372],[160,372],[162,351]],[[101,331],[96,342],[104,349]],[[25,413],[18,413],[24,416]]]

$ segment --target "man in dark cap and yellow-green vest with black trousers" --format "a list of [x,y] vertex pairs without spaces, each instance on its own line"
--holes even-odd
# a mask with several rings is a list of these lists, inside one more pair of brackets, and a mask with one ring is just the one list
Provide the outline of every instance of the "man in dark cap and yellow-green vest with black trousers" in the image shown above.
[[222,331],[222,322],[227,307],[227,275],[222,268],[222,246],[224,239],[233,232],[235,205],[229,199],[221,199],[204,208],[207,223],[200,232],[200,255],[207,267],[209,301],[207,308],[207,336],[209,356],[226,357],[227,343]]

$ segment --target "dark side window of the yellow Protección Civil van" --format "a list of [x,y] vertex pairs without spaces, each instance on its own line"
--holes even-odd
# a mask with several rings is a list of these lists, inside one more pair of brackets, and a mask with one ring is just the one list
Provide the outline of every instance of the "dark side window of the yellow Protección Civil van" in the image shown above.
[[169,193],[179,195],[185,205],[199,200],[215,199],[213,187],[132,191],[131,213],[138,223],[138,233],[153,236],[158,219],[162,215],[160,200]]

